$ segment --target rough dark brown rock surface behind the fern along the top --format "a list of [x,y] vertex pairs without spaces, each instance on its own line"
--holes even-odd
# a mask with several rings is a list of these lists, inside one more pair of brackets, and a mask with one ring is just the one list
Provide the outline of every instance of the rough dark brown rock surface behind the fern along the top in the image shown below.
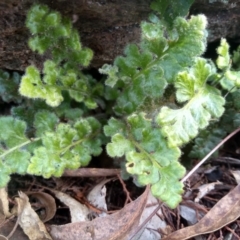
[[[151,12],[151,0],[39,0],[70,17],[82,43],[94,51],[91,67],[111,63],[127,43],[140,40],[140,22]],[[31,63],[41,68],[46,56],[27,46],[29,32],[25,18],[31,0],[1,0],[0,69],[24,71]],[[208,17],[209,42],[221,37],[239,41],[240,2],[237,0],[196,0],[190,14]]]

